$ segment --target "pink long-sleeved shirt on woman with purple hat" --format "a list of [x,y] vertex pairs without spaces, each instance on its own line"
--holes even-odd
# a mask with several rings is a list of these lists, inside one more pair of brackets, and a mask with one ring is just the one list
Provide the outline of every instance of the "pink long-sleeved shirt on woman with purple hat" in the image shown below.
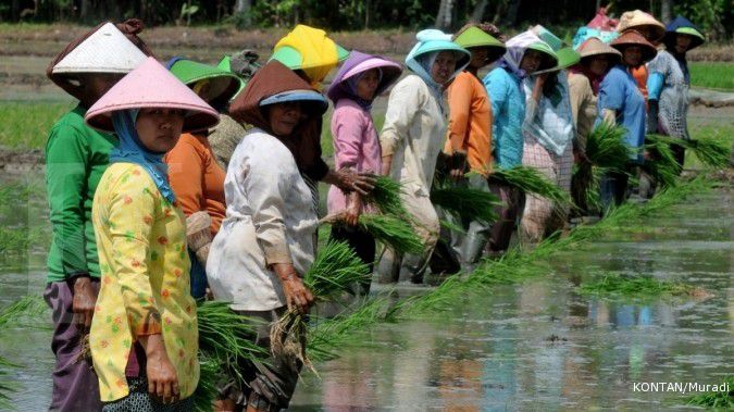
[[[382,149],[370,112],[353,100],[339,99],[332,115],[336,170],[351,166],[357,172],[380,174]],[[328,189],[328,213],[346,209],[347,197],[336,186]]]

